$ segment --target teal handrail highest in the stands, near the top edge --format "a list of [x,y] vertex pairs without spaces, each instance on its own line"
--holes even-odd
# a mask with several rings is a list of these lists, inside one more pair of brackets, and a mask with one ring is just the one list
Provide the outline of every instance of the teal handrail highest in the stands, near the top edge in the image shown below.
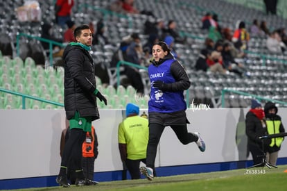
[[104,15],[104,20],[106,20],[107,15],[115,15],[116,17],[119,17],[119,18],[128,19],[128,27],[132,28],[132,19],[131,19],[131,17],[128,17],[127,15],[123,15],[121,13],[115,13],[115,12],[112,12],[111,10],[107,10],[105,8],[98,8],[96,6],[91,6],[87,3],[81,3],[80,6],[78,6],[78,13],[81,12],[82,8],[92,8],[92,10],[100,11]]

